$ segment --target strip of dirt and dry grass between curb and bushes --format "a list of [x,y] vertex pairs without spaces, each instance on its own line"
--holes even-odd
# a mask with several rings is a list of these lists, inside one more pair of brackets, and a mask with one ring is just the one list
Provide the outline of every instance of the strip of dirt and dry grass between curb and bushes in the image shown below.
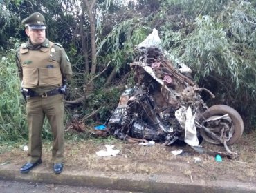
[[[115,145],[120,150],[117,156],[100,157],[95,153],[106,150],[105,144]],[[24,144],[26,145],[26,144]],[[201,145],[211,150],[225,152],[221,145],[203,142]],[[174,174],[195,181],[229,179],[236,181],[256,182],[256,133],[244,134],[235,145],[229,147],[237,152],[237,159],[222,157],[217,162],[214,156],[198,154],[188,145],[163,147],[160,144],[143,146],[131,144],[118,139],[86,139],[82,141],[66,141],[64,170],[98,170],[106,172],[139,173],[139,174]],[[174,156],[172,150],[185,150],[184,154]],[[43,146],[43,165],[52,168],[51,143]],[[195,157],[201,161],[195,161]],[[26,152],[23,146],[10,148],[0,146],[0,165],[12,163],[23,165]]]

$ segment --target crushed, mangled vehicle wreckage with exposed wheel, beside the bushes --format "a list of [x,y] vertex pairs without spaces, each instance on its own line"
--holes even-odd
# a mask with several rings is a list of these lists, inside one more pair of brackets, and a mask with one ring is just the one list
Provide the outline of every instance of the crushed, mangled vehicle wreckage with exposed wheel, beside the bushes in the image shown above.
[[228,145],[236,143],[243,133],[239,113],[227,105],[208,108],[200,94],[214,94],[192,81],[190,68],[182,63],[180,68],[174,67],[158,46],[140,44],[134,52],[130,66],[136,85],[120,96],[118,107],[106,122],[107,130],[130,142],[153,140],[171,145],[180,140],[197,152],[212,152],[199,145],[202,137],[213,144],[223,143],[227,154],[222,155],[237,157]]

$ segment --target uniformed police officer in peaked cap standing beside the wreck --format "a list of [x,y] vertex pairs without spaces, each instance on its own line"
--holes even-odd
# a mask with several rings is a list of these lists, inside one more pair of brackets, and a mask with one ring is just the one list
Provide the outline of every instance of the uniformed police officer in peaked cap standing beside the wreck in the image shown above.
[[28,156],[21,173],[42,163],[42,125],[45,116],[53,133],[53,172],[60,174],[64,159],[64,79],[72,75],[71,63],[59,43],[46,39],[46,23],[39,12],[22,21],[28,41],[16,52],[21,87],[26,96]]

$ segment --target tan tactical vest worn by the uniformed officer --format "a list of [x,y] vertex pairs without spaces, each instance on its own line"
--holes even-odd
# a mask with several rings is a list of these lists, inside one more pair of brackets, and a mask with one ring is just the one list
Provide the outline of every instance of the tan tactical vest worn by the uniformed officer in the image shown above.
[[20,60],[23,72],[23,88],[62,85],[60,59],[56,57],[52,42],[50,42],[50,48],[41,47],[39,50],[22,47],[21,44]]

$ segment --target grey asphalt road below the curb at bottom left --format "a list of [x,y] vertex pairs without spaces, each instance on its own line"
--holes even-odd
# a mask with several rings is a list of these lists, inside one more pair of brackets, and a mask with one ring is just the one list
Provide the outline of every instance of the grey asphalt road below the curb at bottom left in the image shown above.
[[[0,192],[1,193],[46,193],[46,192],[68,192],[68,193],[131,193],[120,190],[110,189],[98,189],[93,187],[82,187],[82,186],[69,186],[69,185],[56,185],[56,184],[45,184],[45,183],[27,183],[17,181],[1,181],[0,180]],[[140,193],[140,192],[132,192]]]

